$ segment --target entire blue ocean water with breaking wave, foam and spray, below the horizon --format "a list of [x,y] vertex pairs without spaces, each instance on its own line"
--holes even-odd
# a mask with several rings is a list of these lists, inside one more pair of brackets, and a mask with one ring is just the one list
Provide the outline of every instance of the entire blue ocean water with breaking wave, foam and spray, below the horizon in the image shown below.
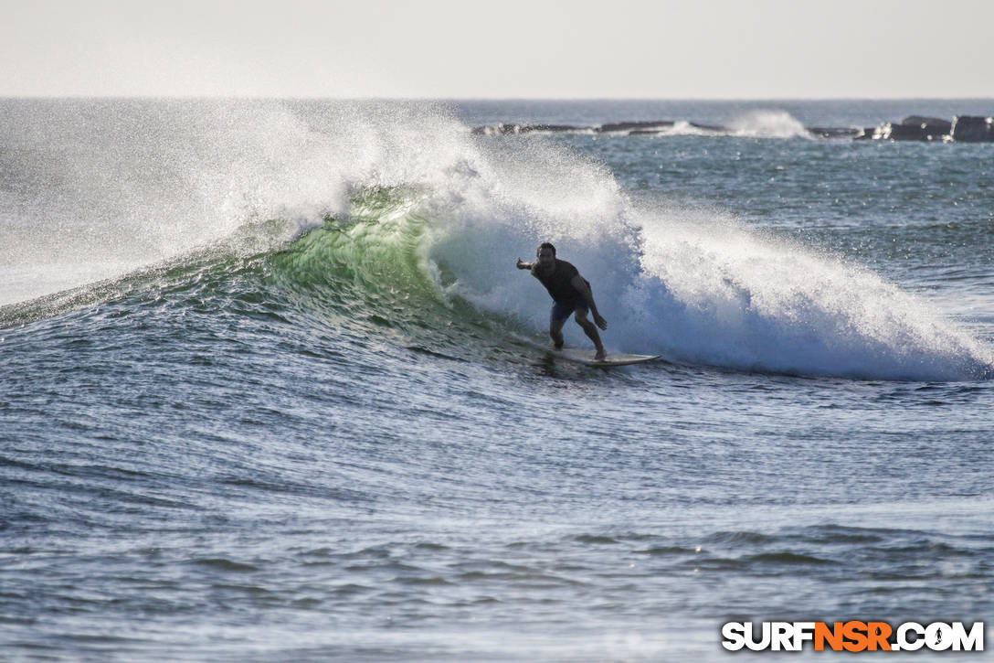
[[[804,126],[991,111],[0,102],[0,655],[711,661],[733,620],[989,621],[994,144]],[[678,123],[471,132],[640,119]],[[608,351],[659,361],[557,358],[514,268],[546,240]]]

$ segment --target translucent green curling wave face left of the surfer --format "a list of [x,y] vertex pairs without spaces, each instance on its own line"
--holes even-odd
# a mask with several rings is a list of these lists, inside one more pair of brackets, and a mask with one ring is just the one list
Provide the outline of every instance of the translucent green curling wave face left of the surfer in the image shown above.
[[347,214],[272,255],[269,283],[310,324],[467,360],[507,354],[521,344],[512,321],[444,292],[455,279],[426,257],[422,198],[408,187],[354,192]]

